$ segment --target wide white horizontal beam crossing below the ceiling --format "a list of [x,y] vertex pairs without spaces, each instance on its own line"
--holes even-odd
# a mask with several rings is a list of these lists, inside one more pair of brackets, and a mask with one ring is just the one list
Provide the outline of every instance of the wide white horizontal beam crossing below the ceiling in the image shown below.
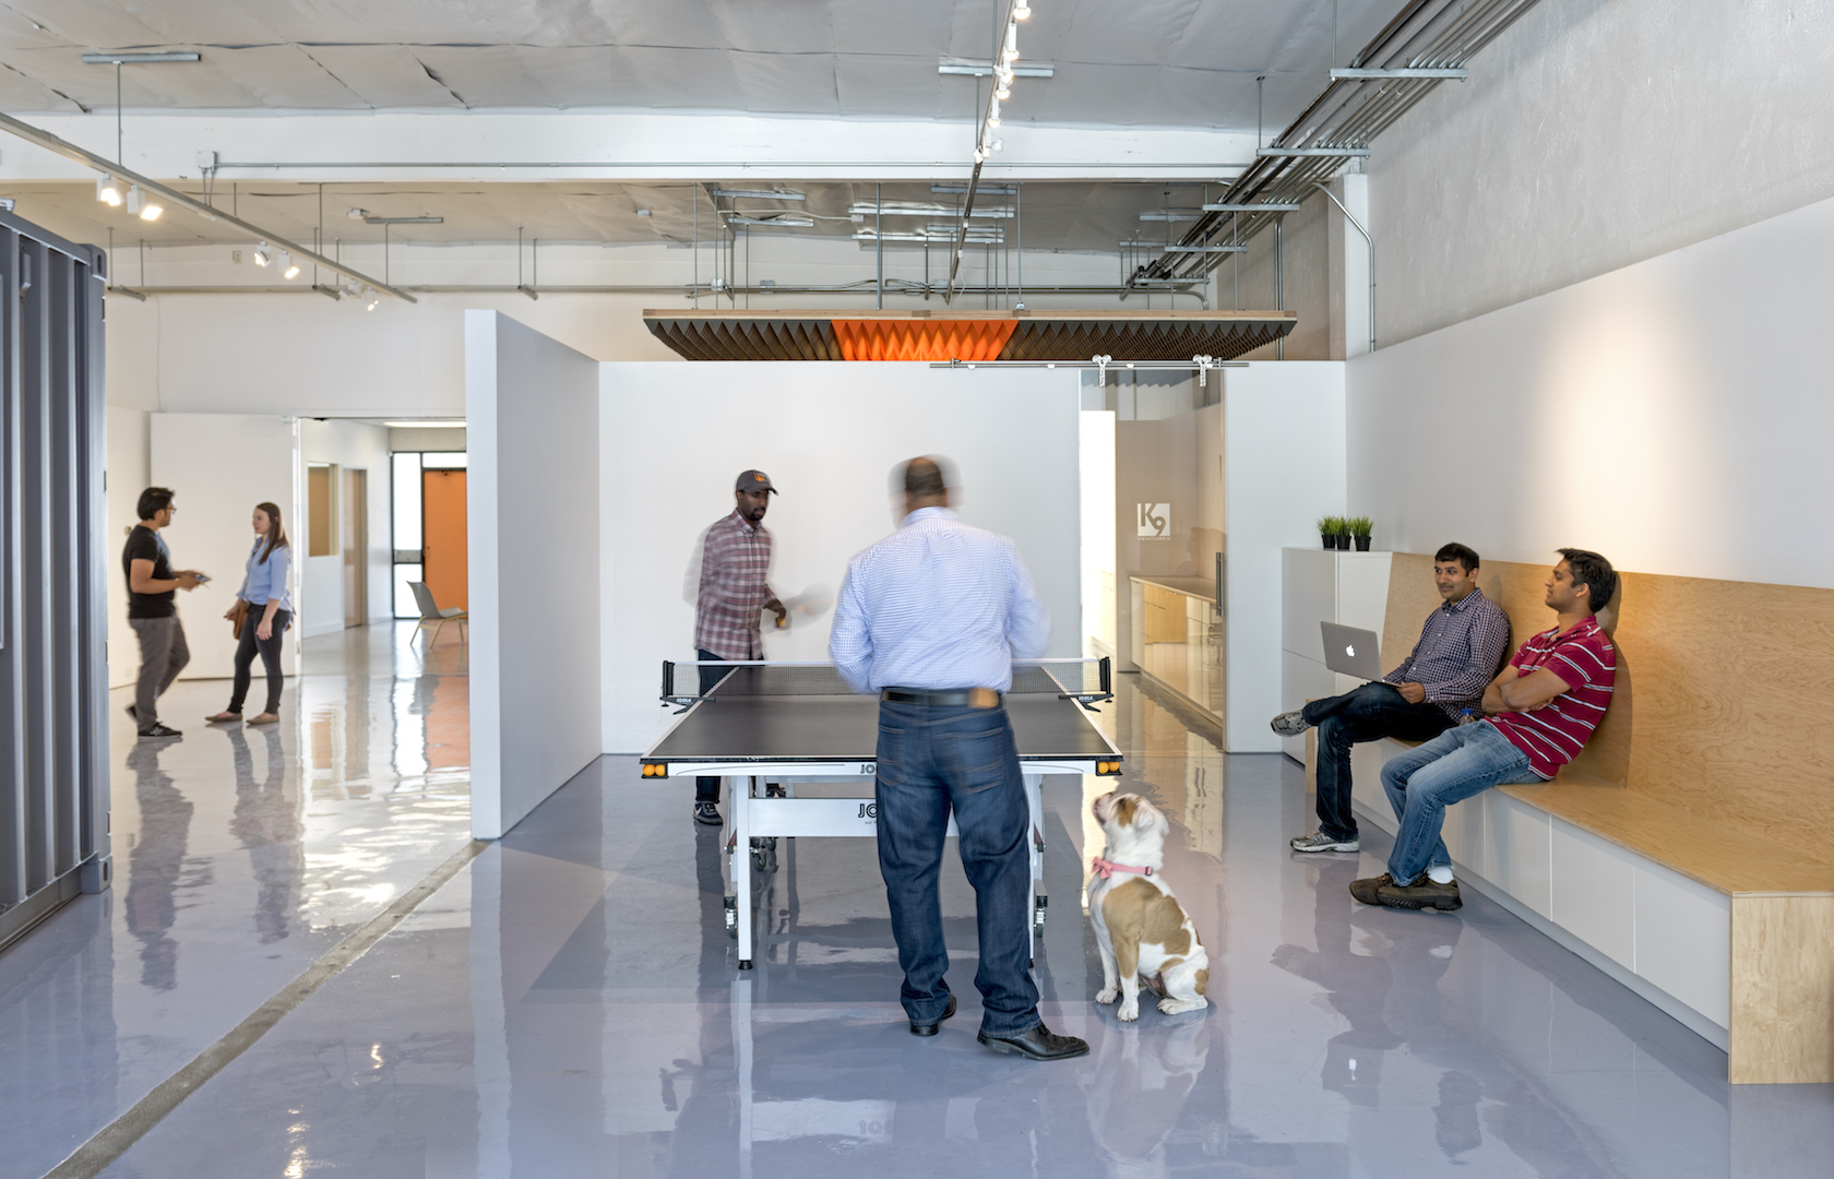
[[[114,156],[116,116],[42,114],[29,121]],[[778,119],[743,114],[138,114],[125,160],[145,176],[292,182],[767,182],[961,180],[976,128],[967,119]],[[992,180],[1229,180],[1254,158],[1254,132],[1033,127],[1014,105]],[[51,152],[0,152],[0,180],[83,180]]]

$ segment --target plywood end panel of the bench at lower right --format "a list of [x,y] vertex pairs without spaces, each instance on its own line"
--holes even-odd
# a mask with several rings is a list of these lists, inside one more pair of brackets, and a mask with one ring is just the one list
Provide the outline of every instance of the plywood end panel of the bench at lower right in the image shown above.
[[1733,897],[1735,1085],[1834,1082],[1834,897]]

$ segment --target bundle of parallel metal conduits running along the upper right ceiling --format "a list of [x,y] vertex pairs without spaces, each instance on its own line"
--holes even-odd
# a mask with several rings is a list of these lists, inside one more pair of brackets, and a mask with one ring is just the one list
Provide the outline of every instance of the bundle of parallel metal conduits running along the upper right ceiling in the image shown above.
[[[1352,68],[1464,68],[1504,29],[1515,24],[1535,0],[1410,0],[1352,59]],[[1443,79],[1337,79],[1293,119],[1267,147],[1366,149],[1396,119],[1432,92]],[[1315,187],[1333,180],[1342,158],[1260,156],[1229,185],[1220,204],[1298,204]],[[1238,216],[1238,238],[1251,242],[1276,224],[1278,213],[1207,213],[1179,238],[1196,246],[1221,229],[1225,216]],[[1361,227],[1359,227],[1361,231]],[[1165,281],[1203,279],[1220,259],[1201,253],[1168,251],[1137,266],[1126,279],[1128,290],[1157,286]]]

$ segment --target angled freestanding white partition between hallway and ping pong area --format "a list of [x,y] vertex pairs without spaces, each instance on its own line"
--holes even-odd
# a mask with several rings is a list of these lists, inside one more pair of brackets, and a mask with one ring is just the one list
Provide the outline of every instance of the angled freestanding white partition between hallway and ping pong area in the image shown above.
[[464,359],[471,832],[493,840],[602,748],[598,361],[497,312],[466,312]]

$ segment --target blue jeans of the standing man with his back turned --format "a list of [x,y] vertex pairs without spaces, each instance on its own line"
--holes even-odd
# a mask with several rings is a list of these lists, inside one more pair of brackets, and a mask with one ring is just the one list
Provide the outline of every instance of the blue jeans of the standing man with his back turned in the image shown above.
[[1038,1027],[1027,937],[1031,805],[1007,710],[880,700],[875,798],[878,871],[904,970],[899,994],[911,1023],[935,1023],[948,1005],[937,875],[954,809],[981,935],[981,968],[974,974],[983,999],[981,1032],[1016,1036]]

